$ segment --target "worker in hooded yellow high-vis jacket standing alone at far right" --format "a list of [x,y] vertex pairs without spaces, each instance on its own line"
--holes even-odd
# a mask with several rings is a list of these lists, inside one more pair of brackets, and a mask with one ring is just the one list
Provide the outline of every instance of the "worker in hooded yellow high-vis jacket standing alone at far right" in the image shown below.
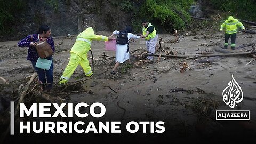
[[220,31],[222,31],[223,28],[226,28],[224,49],[228,48],[228,40],[229,37],[231,37],[231,49],[235,50],[237,26],[243,30],[245,29],[243,24],[232,16],[229,16],[228,19],[220,26]]

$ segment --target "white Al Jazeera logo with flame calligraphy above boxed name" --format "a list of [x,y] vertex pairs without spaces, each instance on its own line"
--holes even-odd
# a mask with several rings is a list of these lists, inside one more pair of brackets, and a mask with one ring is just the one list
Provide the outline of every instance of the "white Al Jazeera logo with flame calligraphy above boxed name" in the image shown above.
[[[242,102],[244,95],[241,87],[233,77],[222,91],[223,101],[230,108],[235,108]],[[250,110],[216,110],[216,120],[250,120]]]

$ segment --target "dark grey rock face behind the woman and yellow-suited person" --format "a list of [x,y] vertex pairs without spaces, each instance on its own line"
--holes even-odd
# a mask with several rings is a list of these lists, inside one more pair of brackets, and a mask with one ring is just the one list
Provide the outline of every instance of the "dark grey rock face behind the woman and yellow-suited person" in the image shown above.
[[27,0],[26,9],[17,13],[15,34],[1,36],[0,41],[18,40],[36,33],[43,23],[49,25],[52,36],[76,35],[86,27],[95,31],[113,31],[131,25],[131,13],[118,9],[114,1]]

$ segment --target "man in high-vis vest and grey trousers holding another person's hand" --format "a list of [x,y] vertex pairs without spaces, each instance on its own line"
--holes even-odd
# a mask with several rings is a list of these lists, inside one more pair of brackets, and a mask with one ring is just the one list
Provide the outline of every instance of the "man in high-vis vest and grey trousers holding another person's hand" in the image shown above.
[[[156,51],[156,42],[158,39],[158,35],[156,29],[151,23],[146,20],[142,20],[142,37],[146,40],[146,47],[149,51],[148,54],[155,54]],[[153,60],[153,56],[148,56],[147,59]]]

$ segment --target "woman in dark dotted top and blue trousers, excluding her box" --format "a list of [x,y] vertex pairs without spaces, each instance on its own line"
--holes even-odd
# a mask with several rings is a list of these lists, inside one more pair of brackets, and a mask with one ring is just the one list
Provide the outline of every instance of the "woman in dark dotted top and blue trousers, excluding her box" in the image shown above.
[[[53,38],[50,37],[51,35],[51,28],[48,25],[42,25],[39,27],[37,34],[28,35],[21,41],[19,41],[18,46],[19,47],[28,47],[28,56],[27,60],[30,60],[34,69],[36,70],[36,73],[38,74],[39,81],[43,83],[43,90],[51,90],[53,86],[53,61],[52,56],[46,57],[45,59],[51,61],[51,66],[48,69],[42,69],[36,67],[36,63],[38,61],[38,53],[36,50],[36,43],[38,41],[46,41],[53,51],[55,52],[54,47],[54,41]],[[38,64],[38,63],[37,63]],[[47,80],[47,84],[46,84]],[[45,85],[46,84],[46,85]]]

